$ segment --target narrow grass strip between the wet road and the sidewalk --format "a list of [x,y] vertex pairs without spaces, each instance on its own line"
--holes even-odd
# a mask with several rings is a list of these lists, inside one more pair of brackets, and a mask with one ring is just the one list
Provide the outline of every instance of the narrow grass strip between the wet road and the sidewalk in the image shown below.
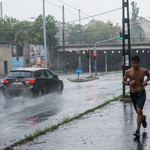
[[39,137],[39,136],[41,136],[43,134],[46,134],[47,132],[50,132],[50,131],[52,132],[52,131],[58,129],[58,127],[61,126],[61,125],[63,125],[63,124],[71,122],[74,119],[78,119],[78,118],[80,118],[80,117],[82,117],[82,116],[84,116],[84,115],[86,115],[88,113],[91,113],[91,112],[95,111],[96,109],[100,109],[100,108],[106,106],[107,104],[109,104],[110,102],[118,101],[120,98],[122,98],[122,95],[120,95],[118,97],[114,97],[112,100],[107,100],[103,104],[101,104],[101,105],[99,105],[99,106],[97,106],[95,108],[88,109],[87,111],[85,111],[83,113],[77,114],[73,118],[70,118],[69,116],[64,117],[63,120],[62,120],[62,122],[59,122],[57,125],[52,125],[51,127],[45,127],[43,130],[37,129],[35,131],[35,133],[30,134],[28,136],[25,135],[24,139],[21,139],[21,140],[15,142],[14,144],[12,144],[11,146],[4,148],[4,150],[12,150],[12,148],[15,147],[15,146],[26,144],[26,143],[34,140],[35,138],[37,138],[37,137]]

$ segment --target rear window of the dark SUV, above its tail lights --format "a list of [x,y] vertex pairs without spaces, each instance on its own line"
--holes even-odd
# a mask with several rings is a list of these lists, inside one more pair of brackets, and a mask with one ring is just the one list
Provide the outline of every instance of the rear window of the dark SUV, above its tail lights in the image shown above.
[[32,72],[30,72],[30,71],[11,71],[7,77],[9,77],[9,78],[30,78],[30,77],[32,77]]

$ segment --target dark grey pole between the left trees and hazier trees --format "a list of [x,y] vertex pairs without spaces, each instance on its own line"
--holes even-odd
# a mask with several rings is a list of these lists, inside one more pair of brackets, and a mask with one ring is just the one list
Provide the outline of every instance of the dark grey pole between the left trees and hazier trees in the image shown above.
[[62,6],[62,24],[63,24],[63,28],[62,28],[62,39],[63,39],[63,70],[66,70],[66,56],[65,56],[65,15],[64,15],[64,5]]

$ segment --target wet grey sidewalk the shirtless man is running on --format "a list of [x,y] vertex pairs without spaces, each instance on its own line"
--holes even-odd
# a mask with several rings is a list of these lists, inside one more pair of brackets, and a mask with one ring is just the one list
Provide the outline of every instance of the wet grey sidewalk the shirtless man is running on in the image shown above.
[[133,136],[136,130],[136,113],[132,104],[116,101],[14,149],[148,150],[149,108],[150,98],[147,91],[144,114],[147,116],[148,126],[146,129],[141,126],[140,138]]

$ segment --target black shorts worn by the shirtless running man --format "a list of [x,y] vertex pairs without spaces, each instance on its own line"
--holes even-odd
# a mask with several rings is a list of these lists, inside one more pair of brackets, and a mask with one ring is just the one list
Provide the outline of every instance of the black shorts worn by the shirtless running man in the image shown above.
[[136,92],[136,93],[130,92],[130,97],[131,97],[135,110],[137,110],[137,107],[143,109],[145,100],[146,100],[145,90],[141,92]]

